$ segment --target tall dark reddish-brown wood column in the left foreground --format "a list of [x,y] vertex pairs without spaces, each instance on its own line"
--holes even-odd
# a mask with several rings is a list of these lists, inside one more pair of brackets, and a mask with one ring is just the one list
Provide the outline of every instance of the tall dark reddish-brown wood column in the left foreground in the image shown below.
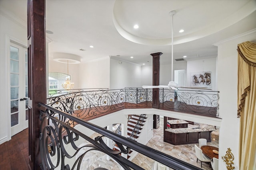
[[38,103],[46,103],[45,0],[28,0],[29,164],[39,170],[40,119]]

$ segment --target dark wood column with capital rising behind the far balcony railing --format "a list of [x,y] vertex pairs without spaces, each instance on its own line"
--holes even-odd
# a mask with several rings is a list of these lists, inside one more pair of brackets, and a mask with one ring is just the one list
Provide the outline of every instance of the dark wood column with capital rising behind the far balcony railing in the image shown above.
[[[160,55],[163,53],[150,54],[153,57],[153,86],[159,85]],[[153,88],[152,107],[159,109],[159,88]]]

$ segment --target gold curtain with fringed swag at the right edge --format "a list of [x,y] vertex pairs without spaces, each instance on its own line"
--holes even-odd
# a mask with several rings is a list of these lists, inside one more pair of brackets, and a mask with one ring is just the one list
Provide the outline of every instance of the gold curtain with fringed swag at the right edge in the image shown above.
[[238,44],[238,112],[240,170],[252,170],[256,149],[256,43]]

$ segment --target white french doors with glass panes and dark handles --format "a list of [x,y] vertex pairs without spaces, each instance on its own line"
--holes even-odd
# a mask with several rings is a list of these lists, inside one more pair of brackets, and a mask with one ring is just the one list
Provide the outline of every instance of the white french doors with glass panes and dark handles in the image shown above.
[[11,135],[28,128],[28,51],[10,43]]

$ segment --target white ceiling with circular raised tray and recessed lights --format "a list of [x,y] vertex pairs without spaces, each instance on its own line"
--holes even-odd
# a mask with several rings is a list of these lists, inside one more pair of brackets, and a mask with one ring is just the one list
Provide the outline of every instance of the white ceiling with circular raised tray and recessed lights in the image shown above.
[[[26,22],[26,0],[0,3]],[[255,0],[46,0],[49,59],[71,53],[81,62],[111,56],[147,65],[150,53],[162,52],[161,63],[170,63],[172,10],[174,59],[216,57],[214,43],[256,28]]]

